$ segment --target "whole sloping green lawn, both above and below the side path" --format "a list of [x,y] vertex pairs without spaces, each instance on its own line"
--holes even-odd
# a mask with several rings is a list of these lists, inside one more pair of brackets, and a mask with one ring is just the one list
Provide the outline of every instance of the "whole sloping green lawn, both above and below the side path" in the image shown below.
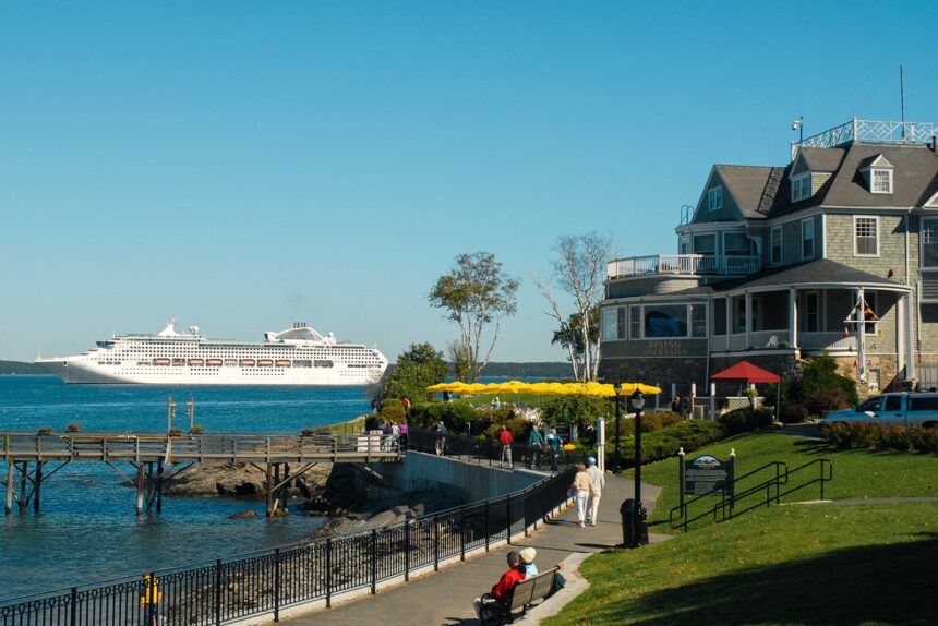
[[[938,456],[834,452],[778,433],[748,433],[702,450],[737,455],[737,474],[770,460],[833,464],[829,498],[938,496]],[[642,468],[661,485],[653,532],[677,503],[677,460]],[[815,499],[816,486],[795,499]],[[656,523],[657,521],[657,523]],[[759,508],[580,567],[590,588],[546,625],[933,624],[938,598],[938,502]]]

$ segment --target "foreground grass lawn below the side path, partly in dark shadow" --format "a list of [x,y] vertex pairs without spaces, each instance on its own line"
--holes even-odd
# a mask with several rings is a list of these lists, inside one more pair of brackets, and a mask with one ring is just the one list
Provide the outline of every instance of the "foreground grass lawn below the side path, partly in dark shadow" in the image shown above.
[[934,624],[938,503],[760,509],[580,566],[545,625]]

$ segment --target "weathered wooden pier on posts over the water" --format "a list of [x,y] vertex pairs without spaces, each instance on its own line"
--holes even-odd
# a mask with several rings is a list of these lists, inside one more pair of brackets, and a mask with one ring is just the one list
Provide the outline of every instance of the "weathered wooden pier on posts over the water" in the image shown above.
[[[71,462],[106,464],[135,484],[137,515],[154,508],[159,513],[164,481],[195,464],[251,464],[265,471],[267,515],[273,516],[282,502],[276,495],[318,462],[366,464],[400,458],[397,442],[390,435],[0,432],[0,459],[7,461],[7,515],[13,510],[13,502],[21,511],[32,502],[38,511],[43,483]],[[116,465],[119,462],[130,464],[136,475],[121,471]],[[294,467],[292,473],[290,464]]]

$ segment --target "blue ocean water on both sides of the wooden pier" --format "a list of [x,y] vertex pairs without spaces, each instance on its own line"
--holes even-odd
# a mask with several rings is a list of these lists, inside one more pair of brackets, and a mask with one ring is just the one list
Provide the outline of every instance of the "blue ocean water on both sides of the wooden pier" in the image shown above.
[[[184,402],[208,432],[285,432],[348,421],[368,412],[363,387],[140,387],[65,385],[55,376],[0,376],[0,431],[166,431],[166,401],[185,429]],[[50,471],[58,464],[49,464]],[[131,473],[130,465],[122,471]],[[5,478],[5,464],[0,478]],[[5,481],[3,482],[5,485]],[[168,497],[163,514],[136,517],[136,492],[103,464],[72,462],[43,483],[41,511],[0,514],[0,600],[153,569],[214,561],[300,541],[323,519],[266,519],[264,504]],[[229,520],[252,508],[258,517]]]

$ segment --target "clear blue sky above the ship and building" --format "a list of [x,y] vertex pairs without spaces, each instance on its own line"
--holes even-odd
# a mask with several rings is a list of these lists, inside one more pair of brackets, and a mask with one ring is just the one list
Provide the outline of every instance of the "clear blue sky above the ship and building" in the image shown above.
[[[879,17],[877,17],[879,15]],[[0,359],[171,317],[458,336],[460,252],[522,279],[493,358],[563,360],[560,234],[675,251],[712,164],[790,124],[938,121],[933,2],[0,2]]]

